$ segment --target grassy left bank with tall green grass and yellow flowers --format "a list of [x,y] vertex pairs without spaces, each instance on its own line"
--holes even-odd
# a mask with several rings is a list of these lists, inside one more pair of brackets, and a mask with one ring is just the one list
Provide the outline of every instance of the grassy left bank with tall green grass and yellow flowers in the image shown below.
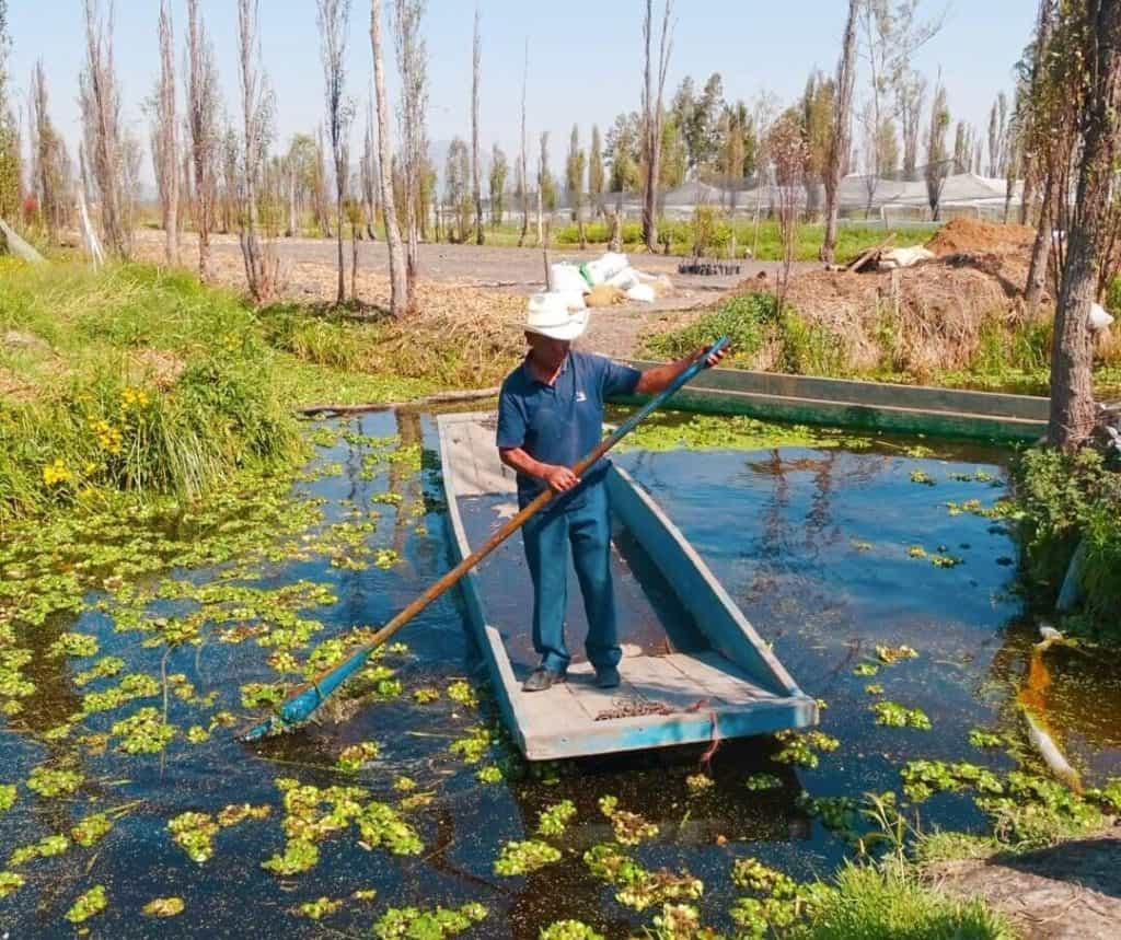
[[494,337],[345,316],[256,311],[154,266],[0,260],[0,522],[113,492],[196,496],[294,465],[296,406],[409,400],[506,364]]

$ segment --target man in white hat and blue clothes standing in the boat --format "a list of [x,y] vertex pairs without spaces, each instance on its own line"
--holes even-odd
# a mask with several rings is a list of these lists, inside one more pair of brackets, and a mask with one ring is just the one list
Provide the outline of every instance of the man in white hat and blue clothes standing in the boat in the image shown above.
[[[583,477],[571,469],[603,435],[603,402],[611,395],[657,394],[704,354],[640,372],[577,352],[573,341],[587,326],[587,310],[569,310],[563,295],[530,299],[526,322],[529,353],[502,383],[498,406],[498,450],[518,475],[525,508],[546,486],[556,499],[522,527],[526,561],[534,583],[534,649],[540,663],[522,685],[535,692],[565,681],[568,650],[568,552],[587,615],[585,651],[603,689],[619,685],[622,650],[611,585],[611,513],[602,459]],[[715,365],[724,353],[710,357]]]

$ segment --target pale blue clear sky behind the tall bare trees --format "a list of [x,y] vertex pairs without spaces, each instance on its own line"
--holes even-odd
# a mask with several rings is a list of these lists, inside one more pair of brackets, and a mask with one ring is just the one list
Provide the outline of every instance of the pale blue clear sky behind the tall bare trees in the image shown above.
[[[73,146],[80,136],[77,76],[84,57],[83,0],[9,0],[13,40],[9,72],[17,100],[43,57],[56,125]],[[108,6],[109,0],[102,0]],[[660,9],[661,0],[656,0]],[[527,133],[530,153],[541,131],[550,134],[558,173],[568,137],[578,123],[586,143],[591,125],[605,130],[621,111],[637,110],[642,68],[641,0],[480,0],[482,7],[481,140],[518,151],[525,44],[529,40]],[[386,0],[383,6],[391,6]],[[429,56],[428,138],[438,143],[471,133],[472,0],[429,0],[423,29]],[[982,131],[997,92],[1011,91],[1012,66],[1028,43],[1035,0],[920,0],[923,17],[944,25],[919,50],[915,65],[933,82],[941,72],[953,120]],[[186,0],[173,0],[177,59],[182,62]],[[115,56],[126,122],[147,141],[141,105],[158,74],[156,22],[159,0],[117,0]],[[201,0],[213,36],[231,114],[238,96],[235,0]],[[769,91],[784,104],[802,92],[813,68],[836,68],[847,0],[677,0],[666,96],[686,75],[697,84],[721,73],[724,96],[750,102]],[[348,92],[364,113],[372,59],[370,4],[353,0],[348,47]],[[386,40],[390,94],[396,94],[391,41]],[[323,121],[323,67],[315,0],[261,0],[265,68],[277,96],[277,147]],[[182,85],[180,85],[182,94]],[[868,95],[861,63],[858,108]],[[26,114],[26,105],[24,106]],[[24,119],[26,121],[26,118]],[[354,134],[359,148],[362,128]],[[151,178],[146,161],[146,177]]]

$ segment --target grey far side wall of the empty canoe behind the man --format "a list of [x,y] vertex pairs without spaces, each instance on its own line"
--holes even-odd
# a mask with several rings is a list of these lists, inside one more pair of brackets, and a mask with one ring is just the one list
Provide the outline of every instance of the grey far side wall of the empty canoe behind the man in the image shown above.
[[[636,369],[650,369],[661,363],[638,360],[630,364]],[[1023,418],[1034,421],[1046,421],[1050,413],[1049,400],[1039,395],[863,382],[855,379],[826,379],[816,375],[788,375],[744,369],[706,369],[689,383],[689,389],[754,392],[814,401],[880,404],[889,408]]]

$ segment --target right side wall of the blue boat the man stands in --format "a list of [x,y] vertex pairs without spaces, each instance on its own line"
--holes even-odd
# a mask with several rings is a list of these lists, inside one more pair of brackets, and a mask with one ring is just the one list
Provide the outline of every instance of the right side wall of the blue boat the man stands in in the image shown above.
[[704,559],[650,495],[615,466],[608,475],[608,487],[623,524],[642,543],[708,642],[758,685],[784,695],[802,695]]

